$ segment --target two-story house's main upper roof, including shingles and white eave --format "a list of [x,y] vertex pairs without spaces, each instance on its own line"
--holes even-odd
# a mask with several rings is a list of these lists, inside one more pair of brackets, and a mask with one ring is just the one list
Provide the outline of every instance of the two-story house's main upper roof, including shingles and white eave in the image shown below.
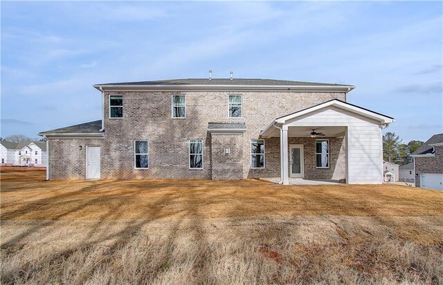
[[169,79],[169,80],[151,80],[151,81],[137,81],[124,83],[104,83],[93,85],[96,89],[100,87],[133,87],[133,88],[152,88],[152,87],[274,87],[277,89],[289,88],[329,88],[329,89],[347,89],[348,91],[354,89],[353,85],[344,85],[336,83],[316,83],[293,80],[275,80],[275,79],[261,79],[261,78],[183,78],[183,79]]

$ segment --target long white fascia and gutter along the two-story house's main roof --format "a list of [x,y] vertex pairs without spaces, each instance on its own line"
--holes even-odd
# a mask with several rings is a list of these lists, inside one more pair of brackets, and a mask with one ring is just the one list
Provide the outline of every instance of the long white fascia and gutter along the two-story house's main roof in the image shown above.
[[126,90],[248,90],[248,91],[332,91],[332,92],[350,92],[354,86],[334,86],[334,85],[93,85],[94,88],[109,91],[126,91]]

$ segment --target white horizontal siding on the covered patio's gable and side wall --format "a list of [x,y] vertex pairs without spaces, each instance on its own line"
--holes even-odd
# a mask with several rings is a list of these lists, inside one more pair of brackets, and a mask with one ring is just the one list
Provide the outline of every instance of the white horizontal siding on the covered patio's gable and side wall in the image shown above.
[[372,121],[359,114],[342,110],[338,107],[325,107],[314,114],[307,114],[288,122],[287,126],[347,127],[347,183],[379,184],[383,182],[383,149],[381,128],[377,121]]

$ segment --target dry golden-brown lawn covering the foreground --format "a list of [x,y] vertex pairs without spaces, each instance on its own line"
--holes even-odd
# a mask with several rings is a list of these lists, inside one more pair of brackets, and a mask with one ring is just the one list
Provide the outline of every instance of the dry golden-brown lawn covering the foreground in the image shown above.
[[1,284],[442,284],[443,192],[1,168]]

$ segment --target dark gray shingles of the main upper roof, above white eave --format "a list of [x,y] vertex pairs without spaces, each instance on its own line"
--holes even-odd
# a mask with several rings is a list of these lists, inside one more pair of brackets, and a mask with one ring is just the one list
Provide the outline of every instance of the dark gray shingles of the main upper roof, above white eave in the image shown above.
[[103,85],[280,85],[280,86],[341,86],[354,87],[352,85],[343,85],[336,83],[316,83],[292,80],[275,80],[275,79],[260,79],[260,78],[183,78],[170,80],[152,80],[152,81],[137,81],[125,83],[105,83],[94,86]]

